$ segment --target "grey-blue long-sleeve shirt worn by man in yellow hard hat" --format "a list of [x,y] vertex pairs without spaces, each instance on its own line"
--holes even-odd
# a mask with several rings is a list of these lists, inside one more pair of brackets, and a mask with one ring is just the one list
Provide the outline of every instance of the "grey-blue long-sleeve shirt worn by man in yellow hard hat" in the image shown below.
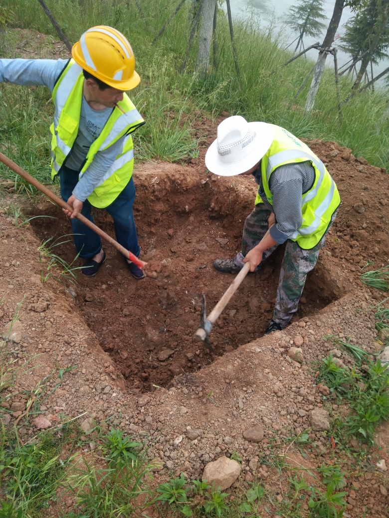
[[[61,74],[67,60],[24,60],[0,59],[0,82],[9,82],[25,86],[46,86],[52,92],[55,80]],[[107,122],[112,108],[101,111],[93,110],[82,96],[80,123],[73,149],[66,161],[66,167],[79,171],[87,156],[92,142],[98,138]],[[98,151],[91,165],[76,184],[73,195],[85,202],[99,184],[115,157],[120,151],[124,137],[104,151]]]

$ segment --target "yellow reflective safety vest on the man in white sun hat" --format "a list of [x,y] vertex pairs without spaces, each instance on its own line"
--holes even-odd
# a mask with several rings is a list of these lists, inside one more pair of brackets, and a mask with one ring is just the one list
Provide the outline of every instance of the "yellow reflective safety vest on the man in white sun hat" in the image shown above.
[[[315,169],[315,181],[311,189],[302,195],[302,225],[290,239],[297,241],[304,250],[310,250],[322,239],[331,222],[332,214],[340,205],[338,188],[323,162],[297,137],[280,126],[272,124],[274,139],[262,158],[261,174],[263,190],[270,205],[273,195],[269,189],[272,172],[281,165],[311,162]],[[259,188],[255,204],[263,203]]]

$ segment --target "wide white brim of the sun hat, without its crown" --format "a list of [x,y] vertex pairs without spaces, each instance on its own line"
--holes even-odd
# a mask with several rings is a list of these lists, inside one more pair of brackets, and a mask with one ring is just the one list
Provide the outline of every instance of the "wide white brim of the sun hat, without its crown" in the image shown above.
[[219,161],[216,139],[212,142],[205,154],[205,165],[207,169],[219,176],[237,176],[241,175],[242,172],[248,171],[261,160],[274,139],[273,125],[267,122],[249,122],[248,125],[256,133],[251,143],[252,151],[246,156],[243,156],[242,159],[237,160],[234,164],[224,164]]

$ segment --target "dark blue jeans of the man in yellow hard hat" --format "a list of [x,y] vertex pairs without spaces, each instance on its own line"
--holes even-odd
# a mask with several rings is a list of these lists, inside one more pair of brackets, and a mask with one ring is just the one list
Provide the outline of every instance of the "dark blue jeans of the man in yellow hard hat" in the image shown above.
[[[72,196],[73,189],[78,182],[78,171],[62,167],[60,180],[61,197],[65,202],[67,202],[67,200]],[[116,240],[121,244],[121,246],[127,248],[127,250],[138,256],[141,249],[136,237],[135,221],[132,213],[132,204],[134,203],[134,199],[135,185],[134,180],[131,177],[131,180],[119,196],[112,204],[105,207],[105,210],[114,220]],[[86,199],[82,205],[81,214],[93,222],[91,209],[92,205]],[[76,218],[72,219],[71,222],[74,244],[76,246],[77,253],[80,252],[80,257],[88,260],[98,254],[102,247],[100,236]]]

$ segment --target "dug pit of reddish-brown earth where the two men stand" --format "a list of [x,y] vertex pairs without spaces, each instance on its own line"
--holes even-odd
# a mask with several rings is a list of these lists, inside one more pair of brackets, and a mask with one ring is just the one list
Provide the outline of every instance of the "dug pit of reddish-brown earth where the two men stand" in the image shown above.
[[[199,323],[202,294],[210,311],[233,279],[213,268],[215,258],[240,250],[244,219],[253,208],[253,179],[207,177],[200,168],[152,163],[135,173],[134,214],[142,259],[155,274],[136,281],[124,259],[103,243],[108,260],[99,274],[78,276],[76,305],[101,347],[114,359],[128,390],[150,391],[169,386],[175,376],[209,365],[217,356],[258,338],[274,307],[284,247],[248,275],[214,327],[214,354],[192,338]],[[69,223],[50,203],[32,220],[40,239],[69,232]],[[96,224],[114,235],[105,211],[94,212]],[[56,253],[71,263],[72,243]],[[76,261],[74,266],[80,266]],[[72,291],[72,290],[71,290]],[[296,318],[312,315],[341,295],[331,272],[320,260],[310,273]]]

